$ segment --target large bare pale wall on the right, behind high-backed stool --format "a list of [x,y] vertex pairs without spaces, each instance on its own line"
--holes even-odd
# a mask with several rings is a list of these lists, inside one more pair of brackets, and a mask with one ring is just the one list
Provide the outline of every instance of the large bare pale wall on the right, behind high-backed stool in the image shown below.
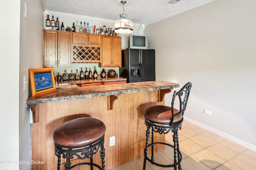
[[[156,79],[192,82],[186,119],[256,150],[256,1],[216,0],[145,27]],[[166,31],[156,31],[161,28]],[[177,89],[178,90],[178,89]],[[166,96],[170,105],[171,94]],[[204,109],[212,115],[204,114]]]

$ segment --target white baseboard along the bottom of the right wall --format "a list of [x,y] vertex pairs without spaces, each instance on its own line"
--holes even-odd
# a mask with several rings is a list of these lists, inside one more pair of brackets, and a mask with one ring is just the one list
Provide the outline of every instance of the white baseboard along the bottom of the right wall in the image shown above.
[[204,129],[206,129],[206,130],[212,132],[212,133],[215,133],[216,135],[219,135],[219,136],[221,136],[221,137],[224,137],[224,138],[226,138],[226,139],[228,139],[228,140],[230,140],[230,141],[232,141],[232,142],[234,142],[234,143],[237,143],[237,144],[242,145],[242,146],[244,146],[244,147],[246,147],[246,148],[248,148],[248,149],[251,149],[251,150],[253,150],[253,151],[256,151],[256,146],[254,146],[254,145],[252,145],[252,144],[250,144],[250,143],[247,143],[247,142],[245,142],[245,141],[242,141],[242,140],[240,140],[240,139],[237,139],[236,137],[233,137],[233,136],[231,136],[231,135],[228,135],[228,134],[226,134],[226,133],[223,133],[222,131],[216,130],[216,129],[212,128],[212,127],[209,127],[209,126],[207,126],[207,125],[204,125],[204,124],[202,124],[202,123],[199,123],[198,121],[194,121],[193,119],[190,119],[190,118],[188,118],[188,117],[185,117],[185,116],[184,116],[184,120],[185,120],[185,121],[188,121],[188,122],[190,122],[190,123],[192,123],[192,124],[194,124],[194,125],[197,125],[197,126],[199,126],[199,127],[202,127],[202,128],[204,128]]

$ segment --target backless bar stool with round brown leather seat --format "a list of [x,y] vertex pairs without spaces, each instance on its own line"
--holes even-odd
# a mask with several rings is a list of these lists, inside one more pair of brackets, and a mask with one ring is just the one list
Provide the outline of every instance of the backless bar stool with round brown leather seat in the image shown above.
[[[90,165],[91,170],[93,170],[93,166],[105,170],[105,131],[106,126],[102,121],[90,117],[73,119],[57,127],[53,133],[55,155],[58,157],[57,169],[60,170],[62,154],[62,157],[66,158],[65,170],[81,165]],[[99,148],[102,167],[92,161],[92,156],[98,152]],[[82,162],[71,166],[70,159],[73,159],[74,156],[79,159],[90,158],[90,162]]]

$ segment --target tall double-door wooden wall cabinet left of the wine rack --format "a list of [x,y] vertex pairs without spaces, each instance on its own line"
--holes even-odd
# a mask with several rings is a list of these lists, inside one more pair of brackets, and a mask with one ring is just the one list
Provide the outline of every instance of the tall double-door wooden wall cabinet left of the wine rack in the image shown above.
[[70,37],[67,31],[44,30],[44,67],[70,67]]

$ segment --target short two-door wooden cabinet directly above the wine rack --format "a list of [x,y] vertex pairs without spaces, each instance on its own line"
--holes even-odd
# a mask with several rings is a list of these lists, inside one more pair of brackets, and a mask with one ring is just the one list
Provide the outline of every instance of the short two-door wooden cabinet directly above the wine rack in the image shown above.
[[73,43],[82,44],[101,44],[101,35],[88,33],[72,33]]

